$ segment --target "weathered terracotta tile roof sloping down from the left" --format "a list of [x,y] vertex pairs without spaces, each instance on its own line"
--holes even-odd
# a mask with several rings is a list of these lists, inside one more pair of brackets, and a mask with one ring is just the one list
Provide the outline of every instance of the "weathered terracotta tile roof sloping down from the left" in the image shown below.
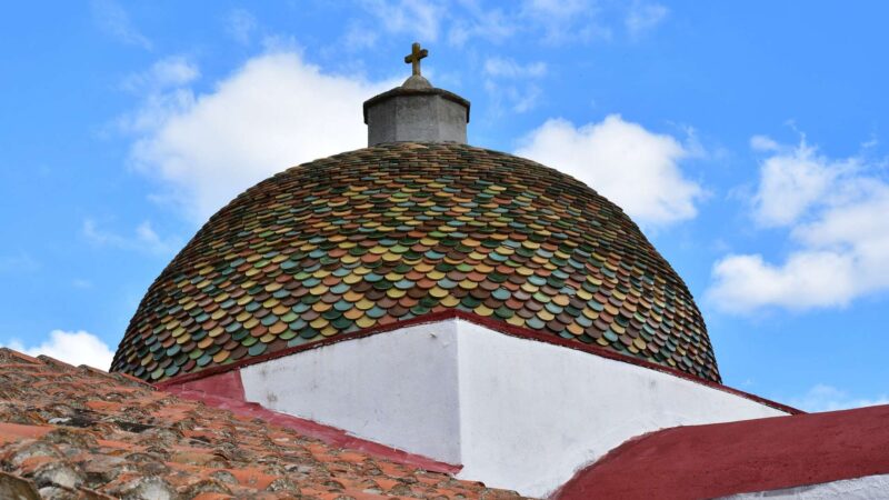
[[2,498],[517,498],[410,457],[329,444],[287,420],[9,349],[0,349],[0,422]]

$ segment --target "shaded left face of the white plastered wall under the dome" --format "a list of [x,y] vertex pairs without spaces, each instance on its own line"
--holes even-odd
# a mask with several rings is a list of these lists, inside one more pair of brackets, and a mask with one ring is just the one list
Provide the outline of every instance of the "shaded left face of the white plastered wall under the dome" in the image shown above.
[[457,324],[310,349],[241,370],[248,401],[460,463]]

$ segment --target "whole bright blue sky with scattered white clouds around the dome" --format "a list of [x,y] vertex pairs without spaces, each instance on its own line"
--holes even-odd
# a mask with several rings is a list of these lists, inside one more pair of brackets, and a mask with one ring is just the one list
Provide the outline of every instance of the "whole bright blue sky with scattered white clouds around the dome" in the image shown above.
[[[52,16],[47,16],[51,10]],[[423,72],[470,143],[618,202],[685,278],[725,381],[889,402],[885,2],[46,2],[0,19],[0,343],[106,362],[206,220],[364,144]]]

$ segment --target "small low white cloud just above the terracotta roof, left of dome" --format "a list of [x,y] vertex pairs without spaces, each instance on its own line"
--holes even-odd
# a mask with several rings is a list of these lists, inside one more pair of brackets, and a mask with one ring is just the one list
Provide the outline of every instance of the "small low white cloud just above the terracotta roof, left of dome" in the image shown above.
[[100,370],[108,370],[114,358],[108,344],[83,330],[52,330],[49,339],[39,346],[26,347],[21,341],[13,340],[8,347],[31,357],[44,354],[69,364],[88,364]]

